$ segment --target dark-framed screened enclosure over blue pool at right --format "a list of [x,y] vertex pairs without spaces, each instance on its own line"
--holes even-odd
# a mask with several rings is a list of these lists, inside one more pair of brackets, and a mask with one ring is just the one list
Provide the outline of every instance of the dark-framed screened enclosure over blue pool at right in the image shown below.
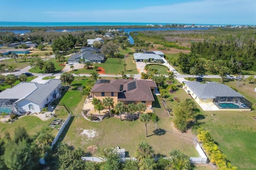
[[244,97],[216,97],[214,105],[219,109],[251,109],[252,103]]

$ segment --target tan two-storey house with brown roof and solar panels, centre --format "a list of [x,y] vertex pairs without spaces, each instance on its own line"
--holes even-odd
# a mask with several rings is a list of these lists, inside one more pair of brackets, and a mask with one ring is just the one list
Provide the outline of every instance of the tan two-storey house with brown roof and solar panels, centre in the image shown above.
[[156,83],[152,80],[133,79],[99,79],[92,87],[93,97],[102,101],[105,97],[112,97],[114,105],[118,102],[128,105],[129,103],[143,103],[148,109],[154,102],[153,94]]

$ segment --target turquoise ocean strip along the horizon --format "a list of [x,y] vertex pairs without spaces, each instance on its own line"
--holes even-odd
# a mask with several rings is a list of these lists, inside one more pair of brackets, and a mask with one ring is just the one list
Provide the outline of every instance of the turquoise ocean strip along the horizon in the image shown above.
[[44,26],[145,26],[147,24],[166,25],[167,23],[143,23],[143,22],[0,22],[1,27],[14,26],[30,26],[30,27],[44,27]]

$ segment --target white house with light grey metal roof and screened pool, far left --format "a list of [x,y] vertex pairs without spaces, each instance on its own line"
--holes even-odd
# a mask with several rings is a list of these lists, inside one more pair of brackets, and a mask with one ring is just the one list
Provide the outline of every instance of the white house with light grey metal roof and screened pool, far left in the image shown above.
[[50,79],[45,84],[21,82],[0,93],[0,112],[41,112],[46,104],[60,95],[61,87],[59,79]]

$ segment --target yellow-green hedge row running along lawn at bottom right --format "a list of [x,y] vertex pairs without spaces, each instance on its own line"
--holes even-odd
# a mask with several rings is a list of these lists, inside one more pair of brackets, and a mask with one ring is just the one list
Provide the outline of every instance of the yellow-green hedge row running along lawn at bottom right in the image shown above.
[[202,130],[198,129],[198,135],[197,135],[199,141],[203,143],[203,148],[208,154],[208,157],[210,161],[213,164],[216,164],[218,166],[218,169],[220,170],[236,170],[236,166],[232,166],[229,162],[226,160],[226,155],[223,154],[220,149],[218,148],[218,145],[214,143],[214,140],[212,139],[212,136],[209,132],[209,130]]

